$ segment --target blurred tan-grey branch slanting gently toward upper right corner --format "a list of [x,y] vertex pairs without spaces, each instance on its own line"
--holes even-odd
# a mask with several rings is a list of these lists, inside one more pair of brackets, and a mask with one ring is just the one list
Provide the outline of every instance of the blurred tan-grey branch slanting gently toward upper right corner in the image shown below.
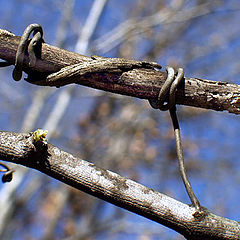
[[[99,39],[95,40],[92,43],[93,51],[104,54],[115,48],[121,42],[125,41],[126,36],[134,37],[148,31],[150,28],[159,25],[164,26],[165,24],[171,24],[175,22],[184,22],[184,24],[186,24],[187,21],[192,20],[193,18],[211,13],[212,8],[211,3],[200,4],[188,10],[182,9],[183,6],[184,2],[182,1],[180,5],[176,6],[176,8],[171,10],[163,8],[157,13],[147,16],[140,21],[134,18],[126,20]],[[162,34],[162,37],[164,38],[166,35],[168,34]],[[171,36],[173,36],[173,34],[171,34]],[[171,39],[171,36],[168,35],[168,39]],[[161,45],[160,42],[158,44]]]

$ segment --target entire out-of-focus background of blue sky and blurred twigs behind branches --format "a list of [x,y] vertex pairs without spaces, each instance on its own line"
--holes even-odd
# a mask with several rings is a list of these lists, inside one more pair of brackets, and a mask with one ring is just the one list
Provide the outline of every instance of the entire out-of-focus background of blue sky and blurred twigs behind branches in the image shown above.
[[[85,55],[157,61],[187,77],[239,83],[238,0],[0,0],[0,28],[39,23],[46,43]],[[0,129],[48,139],[97,166],[190,203],[168,112],[82,86],[15,82],[0,69]],[[239,116],[178,107],[188,175],[201,204],[239,220]],[[14,165],[0,184],[0,239],[183,239],[174,231]]]

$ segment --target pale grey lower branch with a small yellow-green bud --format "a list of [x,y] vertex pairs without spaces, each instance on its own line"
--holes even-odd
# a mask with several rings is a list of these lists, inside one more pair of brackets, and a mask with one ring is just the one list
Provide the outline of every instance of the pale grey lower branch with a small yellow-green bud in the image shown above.
[[[35,139],[36,140],[36,139]],[[174,229],[187,239],[239,239],[240,224],[173,198],[62,151],[33,133],[0,131],[0,158],[35,168],[72,187]]]

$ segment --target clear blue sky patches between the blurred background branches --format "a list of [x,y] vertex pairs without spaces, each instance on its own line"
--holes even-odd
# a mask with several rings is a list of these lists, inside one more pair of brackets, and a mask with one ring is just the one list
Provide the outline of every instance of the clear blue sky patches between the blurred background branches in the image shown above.
[[[10,30],[16,35],[21,35],[28,24],[40,23],[44,29],[45,41],[55,45],[58,26],[61,22],[60,10],[63,2],[0,0],[0,6],[4,6],[0,8],[0,27]],[[66,49],[74,50],[77,33],[84,26],[93,2],[87,0],[75,1],[71,23],[66,30],[67,37],[64,45]],[[119,2],[116,0],[108,2],[96,27],[96,31],[90,39],[89,54],[92,53],[97,39],[124,22],[131,15],[135,10],[134,6],[137,2]],[[189,9],[193,1],[192,3],[191,1],[186,2],[185,9]],[[151,60],[159,62],[164,67],[169,64],[184,67],[188,77],[239,83],[240,4],[236,0],[223,2],[224,4],[219,4],[219,7],[215,8],[210,14],[195,17],[189,25],[186,22],[187,27],[182,31],[181,35],[172,44],[167,44],[160,51],[160,54]],[[150,1],[150,3],[152,2]],[[144,14],[147,15],[149,12],[143,12],[142,15],[144,16]],[[177,25],[182,26],[181,24],[184,25],[185,23],[176,22],[170,25],[175,27]],[[161,35],[161,31],[166,31],[169,34],[169,38],[173,37],[168,24],[154,27],[153,37],[157,38],[158,35]],[[152,33],[150,32],[149,34]],[[166,36],[163,35],[162,37]],[[136,45],[131,45],[136,48],[133,57],[138,59],[144,58],[146,52],[151,48],[148,35],[141,35],[134,41],[136,41]],[[120,50],[121,45],[117,45],[110,51],[104,52],[104,55],[118,57]],[[101,51],[93,53],[102,55]],[[12,68],[10,67],[1,69],[0,72],[0,88],[2,89],[0,92],[0,126],[1,130],[21,131],[23,119],[33,102],[34,95],[40,87],[30,85],[23,80],[14,82],[11,78],[11,70]],[[34,128],[42,128],[44,126],[61,91],[63,90],[53,90],[46,98],[45,105]],[[52,138],[51,142],[69,152],[74,151],[74,153],[77,153],[76,147],[73,147],[71,144],[71,139],[77,135],[78,120],[93,107],[96,99],[95,95],[97,94],[99,94],[98,91],[89,90],[88,88],[80,86],[75,88],[70,104],[60,120],[55,137]],[[131,102],[135,100],[126,97],[126,101]],[[186,146],[184,150],[186,162],[193,164],[193,170],[190,171],[193,187],[200,202],[209,208],[210,211],[224,217],[239,220],[239,116],[225,112],[207,111],[205,113],[201,112],[201,110],[195,111],[192,116],[187,117],[188,115],[186,114],[192,113],[193,110],[188,107],[179,107],[182,137]],[[161,114],[157,122],[158,129],[163,135],[167,135],[171,131],[168,113],[159,112],[158,114]],[[179,178],[176,162],[169,163],[164,160],[164,157],[168,154],[167,151],[165,152],[165,149],[172,146],[174,148],[173,139],[171,141],[168,139],[165,142],[161,139],[160,143],[155,139],[153,144],[163,151],[157,154],[157,159],[152,166],[136,166],[140,176],[138,181],[188,203],[189,200]],[[170,164],[170,166],[164,177],[164,182],[161,182],[162,178],[159,177],[158,170],[164,171],[164,164]],[[26,181],[31,182],[32,177],[35,175],[40,176],[41,174],[36,173],[36,171],[28,173]],[[52,184],[53,188],[55,184],[58,185],[52,179],[44,179],[48,184]],[[22,183],[20,189],[23,189],[24,186],[25,183]],[[26,209],[30,209],[29,211],[33,211],[33,209],[37,211],[36,196],[39,196],[38,194],[35,193],[31,201],[26,203]],[[110,204],[105,206],[105,217],[113,211],[113,208],[115,207]],[[18,217],[21,217],[23,213],[24,211],[19,213]],[[159,234],[162,234],[162,239],[177,239],[177,236],[179,236],[175,232],[135,214],[126,213],[122,221],[124,221],[126,226],[136,224],[136,232],[139,231],[141,234],[145,232],[147,235],[146,228],[155,232],[150,239],[158,239]],[[58,226],[59,232],[62,231],[61,223],[60,221]],[[33,239],[40,239],[44,226],[37,222],[30,225],[31,231],[29,231],[29,236],[32,236]],[[21,233],[21,229],[19,232]],[[20,234],[19,232],[16,231],[12,238],[9,239],[19,239],[17,237]],[[113,235],[113,239],[139,239],[139,234],[134,231],[129,233],[125,229]],[[99,235],[96,235],[96,239],[108,237],[108,232],[101,232]]]

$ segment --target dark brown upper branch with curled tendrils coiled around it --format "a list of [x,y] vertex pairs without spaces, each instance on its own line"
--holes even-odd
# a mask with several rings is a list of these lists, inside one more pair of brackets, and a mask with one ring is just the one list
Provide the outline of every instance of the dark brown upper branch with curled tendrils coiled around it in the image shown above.
[[[20,37],[0,29],[0,58],[14,64],[16,50]],[[94,62],[95,61],[95,62]],[[113,59],[109,59],[113,61]],[[132,60],[115,59],[117,66],[128,64]],[[119,62],[118,62],[119,61]],[[83,64],[84,68],[77,76],[67,79],[48,81],[48,75],[74,64]],[[43,44],[41,58],[37,60],[35,67],[29,67],[28,56],[24,59],[24,71],[29,74],[28,81],[32,84],[44,86],[63,86],[70,83],[81,84],[113,93],[129,95],[142,99],[156,99],[166,80],[166,73],[149,67],[146,62],[136,61],[137,66],[132,68],[110,68],[104,65],[106,61],[84,55],[76,54],[64,49],[59,49],[48,44]],[[142,63],[142,65],[140,64]],[[96,65],[96,70],[94,69]],[[141,66],[140,66],[141,65]],[[100,66],[100,67],[99,67]],[[176,92],[176,103],[213,109],[217,111],[227,110],[230,113],[240,113],[240,86],[227,82],[216,82],[199,78],[185,78],[184,83]]]

